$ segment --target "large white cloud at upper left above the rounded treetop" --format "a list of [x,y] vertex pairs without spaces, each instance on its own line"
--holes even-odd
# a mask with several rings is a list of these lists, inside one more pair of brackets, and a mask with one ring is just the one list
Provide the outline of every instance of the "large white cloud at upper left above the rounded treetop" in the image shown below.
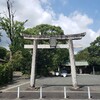
[[[23,3],[24,2],[24,3]],[[28,22],[26,27],[33,27],[42,23],[51,23],[53,12],[48,9],[42,8],[42,3],[49,4],[47,0],[18,0],[16,1],[17,16],[16,20],[26,20]]]

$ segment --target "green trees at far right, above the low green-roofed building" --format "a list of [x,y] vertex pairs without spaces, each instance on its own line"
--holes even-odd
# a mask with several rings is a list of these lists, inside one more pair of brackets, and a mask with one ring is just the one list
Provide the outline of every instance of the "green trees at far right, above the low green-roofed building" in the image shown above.
[[87,60],[90,66],[100,66],[100,36],[88,48],[80,51],[76,60]]

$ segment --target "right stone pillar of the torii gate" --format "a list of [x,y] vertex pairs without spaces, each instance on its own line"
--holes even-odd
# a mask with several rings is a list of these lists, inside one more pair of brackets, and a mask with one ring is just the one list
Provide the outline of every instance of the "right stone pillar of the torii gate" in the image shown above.
[[73,41],[71,39],[69,42],[69,56],[70,56],[70,64],[71,64],[71,75],[72,75],[72,85],[74,89],[77,89],[77,80],[76,80],[76,67],[75,67],[75,59],[74,59],[74,48]]

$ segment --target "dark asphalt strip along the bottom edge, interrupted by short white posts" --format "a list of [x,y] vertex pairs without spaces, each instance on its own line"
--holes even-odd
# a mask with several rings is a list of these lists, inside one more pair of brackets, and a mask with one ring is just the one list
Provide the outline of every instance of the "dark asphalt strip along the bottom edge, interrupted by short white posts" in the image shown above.
[[[0,100],[2,99],[16,99],[17,92],[3,92],[0,93]],[[39,92],[21,92],[20,99],[39,99],[40,93]],[[64,99],[63,92],[43,92],[42,94],[43,99]],[[66,95],[67,99],[88,99],[87,93],[82,92],[73,92],[68,93]],[[99,99],[100,100],[100,93],[91,93],[92,99]]]

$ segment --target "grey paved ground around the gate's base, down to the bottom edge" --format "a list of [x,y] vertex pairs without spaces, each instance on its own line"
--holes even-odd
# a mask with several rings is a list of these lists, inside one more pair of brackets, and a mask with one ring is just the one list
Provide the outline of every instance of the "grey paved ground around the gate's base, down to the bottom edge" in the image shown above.
[[87,99],[87,87],[90,87],[93,99],[100,99],[100,75],[77,75],[77,81],[79,89],[74,90],[70,75],[67,77],[41,77],[36,79],[36,88],[31,88],[29,79],[20,78],[15,80],[14,84],[1,89],[0,100],[3,98],[15,99],[18,86],[20,86],[20,96],[22,99],[39,99],[40,87],[42,87],[44,99],[63,99],[64,87],[66,87],[69,99]]

